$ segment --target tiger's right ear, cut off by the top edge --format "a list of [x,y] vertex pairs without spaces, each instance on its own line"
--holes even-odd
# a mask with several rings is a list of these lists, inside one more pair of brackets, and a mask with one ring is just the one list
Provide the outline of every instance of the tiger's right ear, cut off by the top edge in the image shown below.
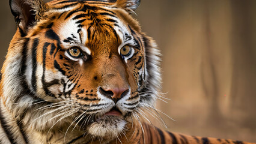
[[131,12],[135,11],[139,4],[141,4],[141,0],[109,0],[116,1],[116,4],[124,8],[125,10]]

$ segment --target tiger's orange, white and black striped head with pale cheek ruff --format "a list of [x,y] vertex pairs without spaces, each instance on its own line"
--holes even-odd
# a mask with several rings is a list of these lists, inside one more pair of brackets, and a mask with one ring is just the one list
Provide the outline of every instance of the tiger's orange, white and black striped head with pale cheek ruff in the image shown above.
[[15,85],[3,87],[22,86],[19,98],[10,91],[4,95],[16,112],[22,106],[34,110],[23,116],[25,124],[115,137],[138,110],[153,107],[160,88],[159,53],[130,15],[139,1],[19,1],[30,15],[19,12],[17,1],[12,11],[19,29],[3,79],[11,81],[8,71],[15,71],[10,66],[15,60],[21,71],[13,76]]

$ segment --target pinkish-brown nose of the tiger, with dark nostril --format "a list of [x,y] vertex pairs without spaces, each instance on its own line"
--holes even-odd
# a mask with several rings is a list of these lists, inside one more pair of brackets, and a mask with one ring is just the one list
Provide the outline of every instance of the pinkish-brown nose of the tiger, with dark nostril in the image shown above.
[[100,94],[105,97],[111,98],[115,103],[128,94],[130,88],[99,88]]

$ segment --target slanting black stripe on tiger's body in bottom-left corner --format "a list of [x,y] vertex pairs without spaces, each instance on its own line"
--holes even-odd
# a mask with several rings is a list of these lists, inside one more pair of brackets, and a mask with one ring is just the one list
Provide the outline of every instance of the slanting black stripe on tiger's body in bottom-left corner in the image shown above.
[[17,144],[15,142],[15,139],[14,139],[14,134],[11,133],[10,131],[10,125],[7,124],[7,122],[5,121],[4,119],[4,116],[2,115],[2,109],[1,109],[1,106],[0,106],[0,123],[1,123],[1,126],[2,126],[2,129],[4,130],[6,136],[8,137],[8,139],[10,140],[10,143],[12,144]]

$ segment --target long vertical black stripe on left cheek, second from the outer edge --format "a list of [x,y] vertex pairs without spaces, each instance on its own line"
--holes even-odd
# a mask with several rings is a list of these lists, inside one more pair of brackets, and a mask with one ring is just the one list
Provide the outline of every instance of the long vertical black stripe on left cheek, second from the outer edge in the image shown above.
[[32,76],[31,76],[31,85],[34,89],[34,92],[37,92],[37,77],[36,77],[36,71],[37,71],[37,47],[39,44],[39,39],[35,38],[33,45],[32,45]]

